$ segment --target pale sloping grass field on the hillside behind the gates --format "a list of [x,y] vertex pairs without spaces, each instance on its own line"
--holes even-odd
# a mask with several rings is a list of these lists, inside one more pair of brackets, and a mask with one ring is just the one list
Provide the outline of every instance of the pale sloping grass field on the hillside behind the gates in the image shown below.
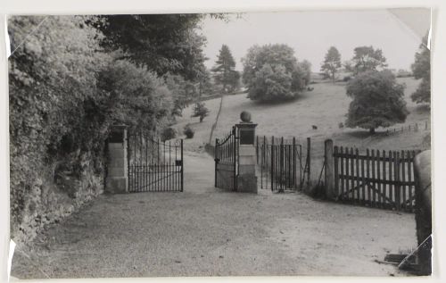
[[[415,91],[419,80],[413,78],[400,78],[399,82],[406,84],[405,98],[409,110],[407,120],[403,124],[391,127],[390,135],[386,135],[387,129],[376,129],[376,134],[371,136],[366,129],[339,128],[340,122],[345,122],[346,113],[351,98],[345,95],[345,84],[321,82],[311,85],[313,91],[304,92],[293,102],[281,104],[261,104],[251,101],[246,94],[225,96],[219,122],[214,132],[214,137],[223,137],[231,127],[239,121],[242,111],[252,113],[252,121],[258,124],[257,135],[291,138],[296,137],[303,147],[306,146],[306,138],[311,138],[312,171],[317,177],[322,166],[323,144],[327,138],[332,138],[337,146],[351,146],[363,150],[374,148],[380,150],[411,150],[426,149],[430,145],[424,142],[425,136],[430,133],[430,109],[427,105],[417,105],[410,100],[410,95]],[[195,137],[185,141],[186,149],[199,150],[209,141],[211,125],[215,121],[219,110],[220,99],[206,101],[211,110],[210,116],[199,123],[197,118],[191,120],[192,107],[185,109],[183,118],[178,120],[178,130],[186,123],[191,123],[195,129]],[[427,122],[428,129],[425,129]],[[409,125],[418,123],[419,130],[409,131]],[[315,125],[318,129],[313,129]],[[393,129],[405,128],[404,132],[393,134]]]

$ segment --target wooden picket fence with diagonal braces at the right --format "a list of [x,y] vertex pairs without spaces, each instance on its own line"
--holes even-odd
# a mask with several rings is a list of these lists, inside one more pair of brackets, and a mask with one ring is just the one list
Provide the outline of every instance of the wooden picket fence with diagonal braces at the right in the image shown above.
[[335,146],[335,200],[414,212],[414,157],[418,151],[380,151]]

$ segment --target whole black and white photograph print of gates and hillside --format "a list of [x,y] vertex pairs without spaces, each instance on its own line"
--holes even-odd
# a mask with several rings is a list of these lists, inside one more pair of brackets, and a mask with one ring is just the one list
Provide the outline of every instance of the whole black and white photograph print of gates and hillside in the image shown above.
[[432,274],[429,7],[6,30],[12,279]]

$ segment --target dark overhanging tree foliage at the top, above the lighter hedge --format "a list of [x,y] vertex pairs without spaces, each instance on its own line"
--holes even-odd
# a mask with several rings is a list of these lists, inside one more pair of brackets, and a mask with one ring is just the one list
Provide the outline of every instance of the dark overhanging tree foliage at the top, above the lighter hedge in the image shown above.
[[90,21],[103,32],[102,46],[158,75],[194,80],[203,70],[205,38],[196,32],[203,14],[103,15]]

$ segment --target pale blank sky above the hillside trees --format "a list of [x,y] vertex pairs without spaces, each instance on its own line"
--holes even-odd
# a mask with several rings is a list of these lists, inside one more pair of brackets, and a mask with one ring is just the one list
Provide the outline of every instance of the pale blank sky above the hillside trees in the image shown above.
[[339,50],[343,62],[353,57],[355,47],[374,46],[383,50],[390,69],[409,70],[420,34],[430,26],[426,14],[422,10],[250,12],[242,14],[242,19],[232,16],[229,22],[207,17],[201,30],[207,37],[204,54],[210,58],[206,66],[214,66],[223,44],[235,57],[235,69],[241,71],[240,59],[249,47],[280,43],[293,47],[297,59],[309,60],[316,72],[330,46]]

